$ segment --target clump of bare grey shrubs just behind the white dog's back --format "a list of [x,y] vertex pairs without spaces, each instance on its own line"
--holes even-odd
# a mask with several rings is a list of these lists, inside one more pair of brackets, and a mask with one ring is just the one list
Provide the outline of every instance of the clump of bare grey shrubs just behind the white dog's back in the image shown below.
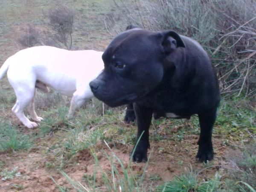
[[[22,47],[48,45],[70,50],[73,44],[73,24],[75,13],[67,6],[57,6],[44,14],[49,20],[44,30],[42,26],[29,24],[23,28],[23,33],[17,38]],[[51,30],[49,30],[50,28]]]

